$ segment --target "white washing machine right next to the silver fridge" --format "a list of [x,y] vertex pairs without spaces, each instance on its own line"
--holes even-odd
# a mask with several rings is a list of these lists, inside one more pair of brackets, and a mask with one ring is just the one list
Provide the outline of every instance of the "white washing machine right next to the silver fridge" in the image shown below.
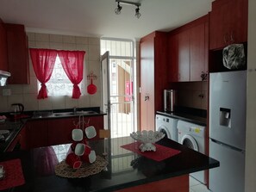
[[[178,143],[205,154],[205,127],[180,120],[178,121],[177,128]],[[196,178],[201,183],[206,183],[203,170],[191,173],[190,176]]]

